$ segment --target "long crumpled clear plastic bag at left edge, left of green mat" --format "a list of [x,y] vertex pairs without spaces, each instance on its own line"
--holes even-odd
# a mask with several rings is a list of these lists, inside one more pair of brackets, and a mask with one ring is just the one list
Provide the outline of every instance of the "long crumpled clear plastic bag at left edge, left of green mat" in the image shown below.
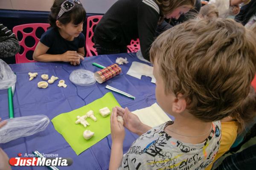
[[45,115],[22,116],[6,121],[7,124],[0,128],[0,143],[41,132],[45,130],[50,122]]

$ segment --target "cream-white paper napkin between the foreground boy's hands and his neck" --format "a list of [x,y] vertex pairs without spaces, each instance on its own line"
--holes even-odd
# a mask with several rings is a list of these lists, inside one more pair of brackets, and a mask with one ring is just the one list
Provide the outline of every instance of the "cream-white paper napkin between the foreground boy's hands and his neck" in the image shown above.
[[157,103],[154,103],[148,108],[143,108],[143,109],[133,111],[132,113],[136,114],[139,117],[141,122],[143,122],[145,125],[148,125],[150,127],[155,127],[169,120],[172,120],[160,108],[160,106],[157,105]]

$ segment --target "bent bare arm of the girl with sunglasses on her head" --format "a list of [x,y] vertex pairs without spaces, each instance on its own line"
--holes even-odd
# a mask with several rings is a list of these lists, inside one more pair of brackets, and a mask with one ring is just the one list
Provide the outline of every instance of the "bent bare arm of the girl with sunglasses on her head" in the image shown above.
[[41,62],[53,62],[53,61],[63,61],[63,62],[73,62],[79,59],[76,51],[66,51],[63,54],[46,54],[49,47],[44,45],[41,42],[38,42],[38,45],[35,48],[33,59],[35,61]]

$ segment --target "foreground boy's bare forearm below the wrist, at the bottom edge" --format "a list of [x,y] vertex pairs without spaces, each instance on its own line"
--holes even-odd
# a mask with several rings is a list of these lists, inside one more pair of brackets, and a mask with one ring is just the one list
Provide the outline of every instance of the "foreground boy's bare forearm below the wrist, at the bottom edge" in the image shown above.
[[122,143],[112,143],[109,170],[117,170],[122,161]]

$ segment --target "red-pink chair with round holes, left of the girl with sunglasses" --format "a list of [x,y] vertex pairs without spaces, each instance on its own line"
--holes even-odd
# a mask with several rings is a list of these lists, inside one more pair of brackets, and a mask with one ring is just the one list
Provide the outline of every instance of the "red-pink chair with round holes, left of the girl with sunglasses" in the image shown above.
[[[15,35],[17,36],[18,35],[18,31],[22,34],[22,39],[19,41],[20,43],[20,46],[21,48],[23,47],[24,48],[24,51],[22,54],[20,53],[17,53],[15,55],[15,59],[16,59],[16,63],[25,63],[25,62],[36,62],[34,60],[29,60],[26,58],[26,53],[28,51],[34,51],[35,50],[35,47],[36,45],[38,44],[39,40],[40,40],[40,37],[36,37],[36,30],[37,28],[43,28],[44,31],[47,31],[47,28],[49,27],[50,25],[47,24],[47,23],[32,23],[32,24],[23,24],[23,25],[19,25],[19,26],[15,26],[13,27],[13,32],[15,33]],[[24,32],[24,29],[25,28],[32,28],[32,32],[29,32],[29,33],[26,33]],[[34,40],[35,40],[35,44],[32,45],[32,47],[28,47],[26,44],[25,44],[25,39],[27,37],[32,37]]]

